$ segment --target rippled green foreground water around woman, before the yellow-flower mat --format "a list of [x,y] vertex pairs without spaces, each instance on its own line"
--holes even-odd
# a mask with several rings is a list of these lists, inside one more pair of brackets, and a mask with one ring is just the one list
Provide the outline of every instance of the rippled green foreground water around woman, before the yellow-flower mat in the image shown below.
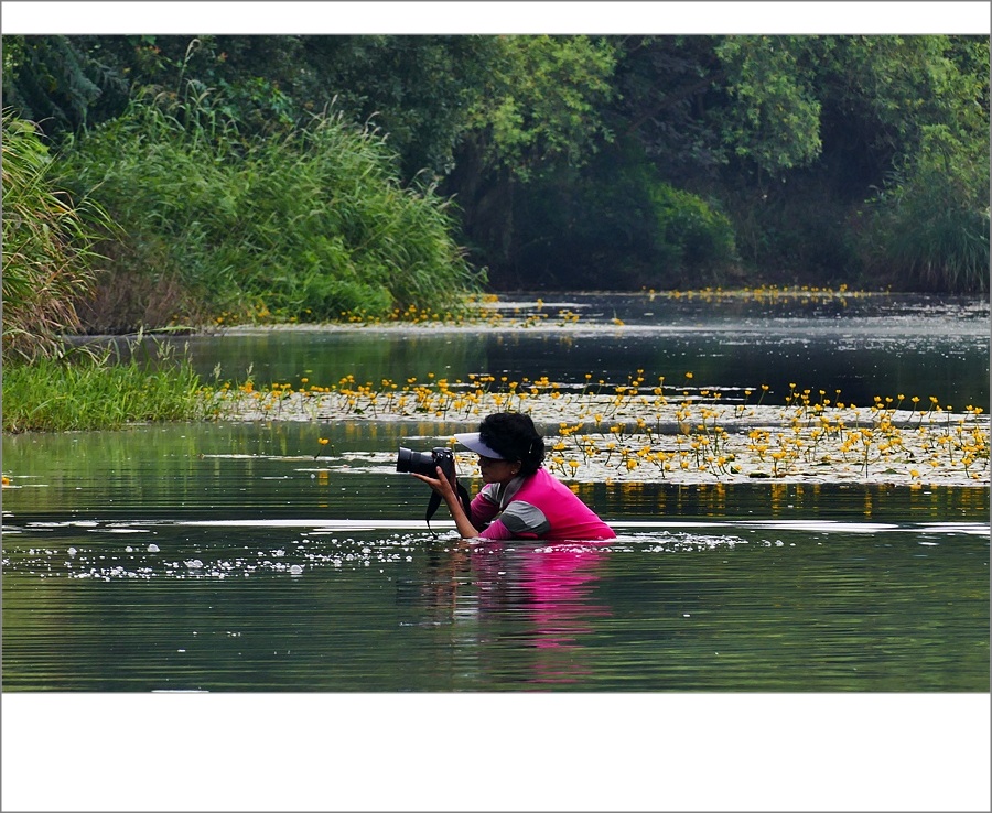
[[608,546],[467,548],[317,431],[410,427],[6,438],[4,689],[988,691],[984,488],[584,485]]

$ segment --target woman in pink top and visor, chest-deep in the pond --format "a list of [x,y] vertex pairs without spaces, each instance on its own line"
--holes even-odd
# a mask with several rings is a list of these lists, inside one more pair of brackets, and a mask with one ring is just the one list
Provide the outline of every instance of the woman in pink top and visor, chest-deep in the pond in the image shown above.
[[441,467],[436,477],[413,474],[448,505],[464,539],[614,539],[604,523],[571,489],[541,466],[544,441],[529,415],[496,412],[478,432],[456,434],[463,446],[478,455],[483,487],[465,513]]

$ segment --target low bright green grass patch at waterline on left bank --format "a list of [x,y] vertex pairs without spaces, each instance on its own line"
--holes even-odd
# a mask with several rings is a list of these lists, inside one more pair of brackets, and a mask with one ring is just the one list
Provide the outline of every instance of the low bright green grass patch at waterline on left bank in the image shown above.
[[[139,343],[140,344],[140,343]],[[4,432],[112,430],[128,423],[208,416],[204,384],[170,350],[142,356],[68,353],[3,371]]]

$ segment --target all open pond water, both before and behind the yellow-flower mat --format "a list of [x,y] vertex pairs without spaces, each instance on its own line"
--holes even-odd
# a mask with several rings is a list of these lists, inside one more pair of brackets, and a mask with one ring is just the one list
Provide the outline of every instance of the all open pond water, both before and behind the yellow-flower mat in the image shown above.
[[[768,402],[797,381],[989,406],[986,303],[561,304],[583,314],[568,329],[244,332],[190,350],[259,383],[643,368],[729,393],[769,381]],[[443,511],[427,528],[423,486],[392,465],[459,429],[4,436],[4,690],[989,691],[986,481],[580,484],[608,545],[466,548]]]

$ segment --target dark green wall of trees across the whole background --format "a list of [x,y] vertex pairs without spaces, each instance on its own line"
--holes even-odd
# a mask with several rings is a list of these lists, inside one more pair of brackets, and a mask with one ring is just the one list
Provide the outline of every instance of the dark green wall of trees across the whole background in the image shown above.
[[[986,288],[979,268],[989,221],[986,37],[22,36],[3,44],[6,98],[42,120],[55,144],[120,117],[142,88],[179,99],[191,80],[244,137],[285,136],[331,109],[370,123],[399,156],[402,182],[436,182],[455,197],[459,239],[496,285],[569,280],[556,257],[589,258],[604,286],[673,279],[681,260],[659,249],[667,243],[650,193],[667,184],[689,195],[679,198],[689,209],[703,200],[733,227],[735,252],[712,246],[700,273]],[[910,259],[896,249],[906,235],[927,234],[928,187],[956,220],[929,241],[936,256],[921,251],[920,237]],[[537,234],[539,224],[551,231]]]

